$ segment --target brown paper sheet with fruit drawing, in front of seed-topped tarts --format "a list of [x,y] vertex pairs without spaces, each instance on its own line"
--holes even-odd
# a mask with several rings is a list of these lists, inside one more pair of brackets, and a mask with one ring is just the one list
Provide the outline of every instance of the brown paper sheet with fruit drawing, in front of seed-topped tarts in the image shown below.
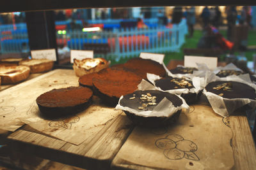
[[[232,169],[235,165],[229,121],[214,113],[209,106],[191,106],[191,113],[181,113],[177,124],[162,130],[152,134],[150,129],[136,127],[117,153],[111,168]],[[182,136],[182,139],[175,141],[174,136]],[[195,155],[189,153],[189,157],[186,156],[185,141],[196,145]],[[182,142],[184,148],[179,146]],[[184,157],[180,157],[184,154],[180,151],[186,151]]]

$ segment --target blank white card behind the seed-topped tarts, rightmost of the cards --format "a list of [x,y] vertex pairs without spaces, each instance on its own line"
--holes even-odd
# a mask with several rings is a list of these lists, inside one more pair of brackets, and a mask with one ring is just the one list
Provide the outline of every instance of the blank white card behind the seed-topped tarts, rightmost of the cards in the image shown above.
[[217,57],[199,57],[199,56],[187,56],[184,57],[185,67],[197,67],[196,63],[204,63],[209,69],[215,69],[217,67]]

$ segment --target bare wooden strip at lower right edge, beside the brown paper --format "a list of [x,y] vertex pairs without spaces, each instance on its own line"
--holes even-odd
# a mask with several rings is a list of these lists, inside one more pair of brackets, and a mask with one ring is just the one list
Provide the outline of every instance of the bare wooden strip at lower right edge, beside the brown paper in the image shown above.
[[255,143],[246,116],[231,116],[230,127],[232,129],[232,149],[236,169],[255,169]]

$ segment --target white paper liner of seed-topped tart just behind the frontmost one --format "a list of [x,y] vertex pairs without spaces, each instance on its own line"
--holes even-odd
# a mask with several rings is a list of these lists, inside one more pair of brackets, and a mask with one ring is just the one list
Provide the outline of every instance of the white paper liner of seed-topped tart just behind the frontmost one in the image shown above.
[[[191,89],[172,89],[172,90],[162,90],[160,87],[156,87],[156,80],[159,80],[161,77],[156,75],[156,74],[150,74],[147,73],[147,79],[148,81],[150,81],[154,86],[156,90],[160,90],[163,92],[169,92],[171,94],[177,94],[177,95],[181,95],[181,94],[188,94],[188,93],[196,93],[198,94],[198,92],[200,92],[200,90],[204,89],[201,87],[200,81],[204,81],[204,78],[200,78],[198,76],[193,76],[192,78],[192,83],[194,85],[195,88],[191,88]],[[187,78],[189,80],[189,78]]]

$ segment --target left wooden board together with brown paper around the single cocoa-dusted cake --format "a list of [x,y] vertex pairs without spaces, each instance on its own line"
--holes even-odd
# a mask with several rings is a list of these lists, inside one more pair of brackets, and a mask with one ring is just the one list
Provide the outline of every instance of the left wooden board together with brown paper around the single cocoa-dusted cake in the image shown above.
[[[75,76],[73,70],[57,69],[38,78],[34,78],[33,80],[4,90],[0,93],[0,96],[5,96],[4,101],[18,103],[15,104],[15,111],[4,115],[5,118],[15,115],[17,118],[19,117],[19,120],[22,120],[20,115],[26,115],[26,117],[28,117],[26,120],[29,120],[29,116],[31,115],[33,116],[31,119],[36,119],[36,115],[33,114],[37,114],[38,108],[33,104],[33,101],[35,101],[38,94],[42,94],[54,88],[58,89],[78,85],[77,80],[78,78]],[[15,96],[7,96],[7,94],[15,94]],[[95,122],[95,127],[84,131],[85,133],[90,132],[90,138],[83,135],[83,133],[81,134],[80,131],[76,131],[76,124],[78,123],[74,121],[62,121],[65,122],[65,125],[59,124],[60,126],[58,127],[56,126],[58,122],[55,122],[54,127],[49,127],[47,122],[49,120],[45,120],[46,124],[44,124],[44,120],[40,120],[40,125],[46,125],[46,129],[52,128],[52,132],[61,130],[63,134],[63,132],[70,133],[70,131],[72,131],[70,135],[78,135],[79,139],[83,139],[84,136],[83,142],[79,145],[68,143],[65,141],[65,138],[61,140],[57,138],[58,136],[53,137],[53,134],[50,135],[49,131],[37,131],[28,125],[24,125],[10,134],[10,136],[8,136],[9,144],[13,150],[32,153],[45,159],[55,160],[86,169],[108,169],[114,156],[131,132],[132,127],[131,122],[120,110],[118,110],[118,115],[109,120],[106,119],[106,121],[103,121],[104,124],[99,125],[99,120],[102,121],[102,117],[98,117],[97,115],[102,114],[102,111],[105,111],[104,113],[106,114],[111,114],[111,110],[113,113],[116,113],[114,108],[108,108],[104,106],[104,104],[101,104],[100,101],[97,104],[93,103],[87,110],[79,113],[80,120],[82,120],[81,114],[89,114],[90,117],[88,117],[88,119],[94,120]],[[92,121],[86,121],[85,119],[79,123],[84,123],[85,125],[93,123]],[[81,127],[79,128],[81,129]],[[95,131],[92,131],[92,129],[95,129]]]

